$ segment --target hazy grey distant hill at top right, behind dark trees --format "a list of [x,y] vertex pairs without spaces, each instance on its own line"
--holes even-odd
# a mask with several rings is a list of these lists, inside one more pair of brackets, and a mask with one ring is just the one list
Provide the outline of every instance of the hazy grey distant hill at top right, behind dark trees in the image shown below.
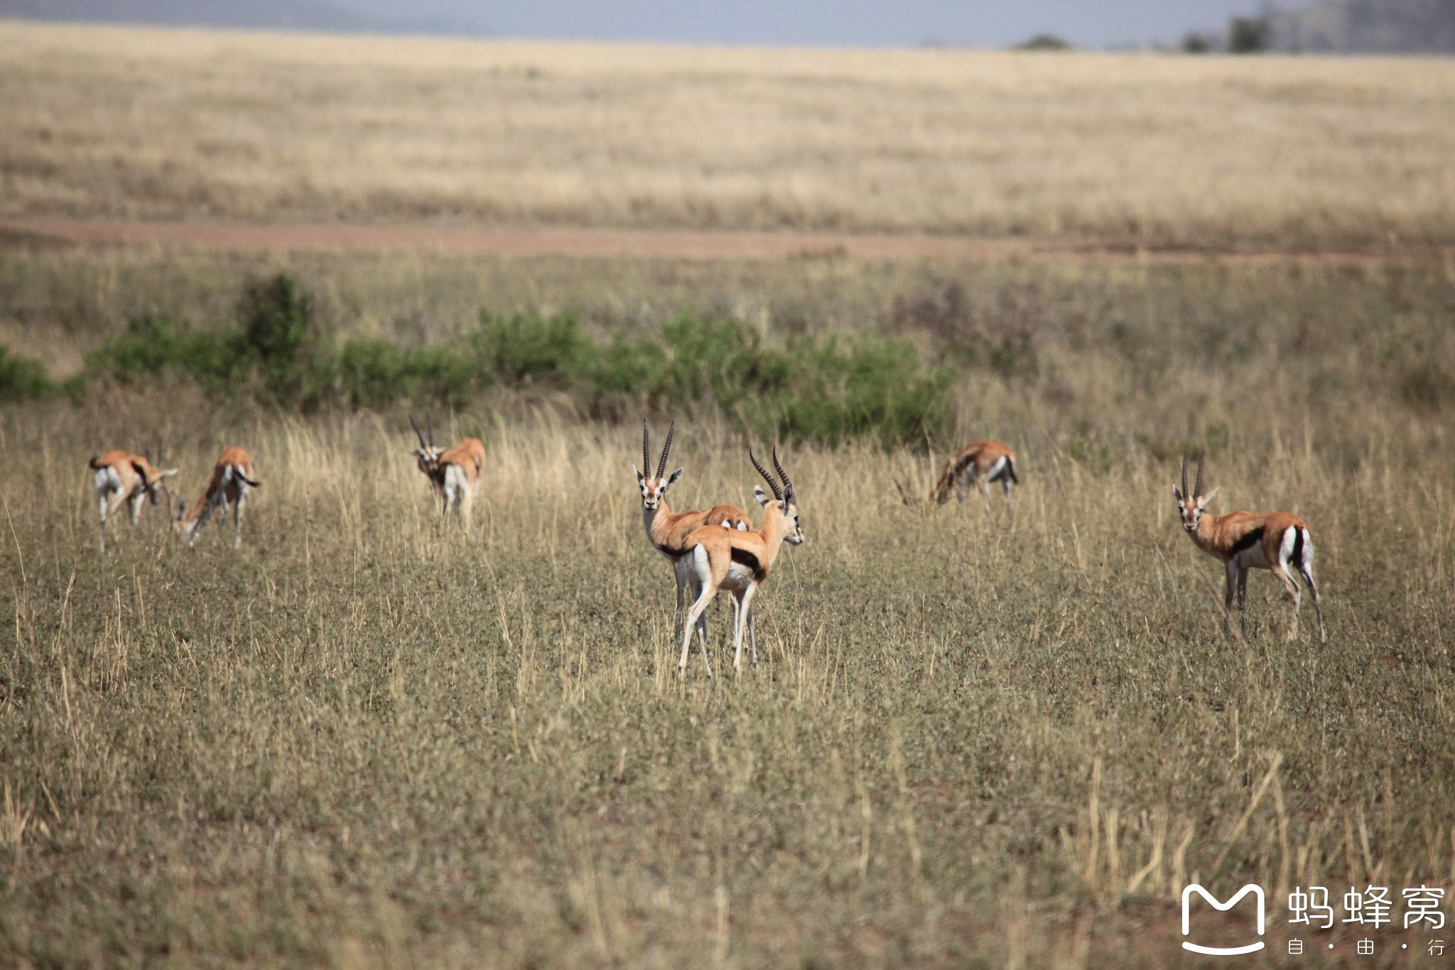
[[1455,54],[1455,0],[1324,0],[1275,12],[1269,26],[1280,51]]

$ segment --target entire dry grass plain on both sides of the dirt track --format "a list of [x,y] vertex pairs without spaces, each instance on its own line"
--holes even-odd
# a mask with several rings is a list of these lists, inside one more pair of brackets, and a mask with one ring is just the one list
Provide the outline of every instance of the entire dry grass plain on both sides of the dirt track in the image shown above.
[[[777,442],[808,542],[755,599],[757,669],[726,669],[711,609],[716,682],[695,654],[677,673],[633,476],[639,417],[658,442],[675,419],[672,508],[755,508],[745,445],[773,442],[707,398],[613,416],[519,381],[303,413],[170,372],[4,400],[0,966],[1218,966],[1180,950],[1196,880],[1266,887],[1269,950],[1237,966],[1288,967],[1292,887],[1455,890],[1455,263],[1419,252],[1452,239],[1451,71],[0,25],[10,217],[1403,250],[0,237],[0,345],[57,378],[148,314],[234,327],[278,272],[323,343],[436,346],[482,310],[569,310],[598,340],[688,314],[776,349],[893,336],[954,374],[924,446]],[[485,439],[470,531],[407,454],[426,407]],[[1017,451],[1013,513],[901,502],[978,438]],[[252,452],[243,550],[208,529],[179,551],[147,506],[97,554],[87,458],[159,441],[188,494],[224,445]],[[1307,598],[1285,640],[1267,573],[1248,636],[1222,636],[1222,570],[1171,497],[1202,448],[1215,512],[1310,521],[1327,646]],[[1200,939],[1240,941],[1209,916]],[[1400,950],[1432,934],[1385,926],[1368,958],[1355,929],[1305,932],[1299,966],[1439,966]]]

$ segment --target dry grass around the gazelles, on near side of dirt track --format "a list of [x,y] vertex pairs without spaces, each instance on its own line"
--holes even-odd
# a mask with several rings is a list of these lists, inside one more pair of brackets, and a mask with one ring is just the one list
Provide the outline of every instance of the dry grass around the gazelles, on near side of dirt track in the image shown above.
[[[108,266],[195,313],[246,269],[48,259],[25,305],[74,314],[61,342],[106,326]],[[466,265],[410,265],[290,268],[339,326],[467,302]],[[1443,272],[826,266],[716,273],[774,326],[822,288],[834,313],[799,326],[898,318],[930,348],[959,282],[970,326],[1027,327],[1035,372],[959,391],[959,433],[1011,441],[1024,487],[1014,519],[905,509],[918,455],[789,455],[809,542],[758,601],[764,665],[716,685],[675,673],[631,428],[530,396],[457,414],[490,451],[460,537],[402,414],[185,384],[7,409],[0,963],[1151,967],[1187,878],[1275,910],[1295,884],[1455,884],[1452,403],[1406,396],[1398,356],[1451,359]],[[515,269],[602,314],[621,284]],[[669,311],[713,275],[668,269],[621,278]],[[84,458],[156,432],[185,489],[252,449],[242,554],[175,554],[154,509],[93,554]],[[751,500],[725,426],[678,442],[684,508]],[[1253,634],[1221,637],[1170,496],[1196,444],[1219,508],[1314,524],[1327,647],[1307,614],[1283,641],[1267,576]]]

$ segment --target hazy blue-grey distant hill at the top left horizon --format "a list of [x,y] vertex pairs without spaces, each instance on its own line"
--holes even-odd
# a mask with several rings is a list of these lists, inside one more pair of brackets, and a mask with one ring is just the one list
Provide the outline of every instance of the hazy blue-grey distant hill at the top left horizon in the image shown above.
[[324,0],[0,0],[0,17],[339,32],[394,26]]

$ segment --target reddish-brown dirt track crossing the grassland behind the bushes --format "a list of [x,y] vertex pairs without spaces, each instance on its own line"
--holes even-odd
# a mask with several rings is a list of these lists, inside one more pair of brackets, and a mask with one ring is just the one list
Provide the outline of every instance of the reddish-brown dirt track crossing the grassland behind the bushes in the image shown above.
[[[207,223],[92,223],[0,220],[12,243],[166,246],[223,252],[436,252],[498,256],[647,259],[968,259],[985,262],[1136,260],[1276,265],[1317,262],[1365,266],[1452,259],[1455,249],[1275,250],[1139,246],[1133,243],[1037,243],[959,236],[850,236],[834,233],[709,233],[690,230],[473,228],[442,225],[226,225]],[[6,241],[0,239],[0,241]]]

